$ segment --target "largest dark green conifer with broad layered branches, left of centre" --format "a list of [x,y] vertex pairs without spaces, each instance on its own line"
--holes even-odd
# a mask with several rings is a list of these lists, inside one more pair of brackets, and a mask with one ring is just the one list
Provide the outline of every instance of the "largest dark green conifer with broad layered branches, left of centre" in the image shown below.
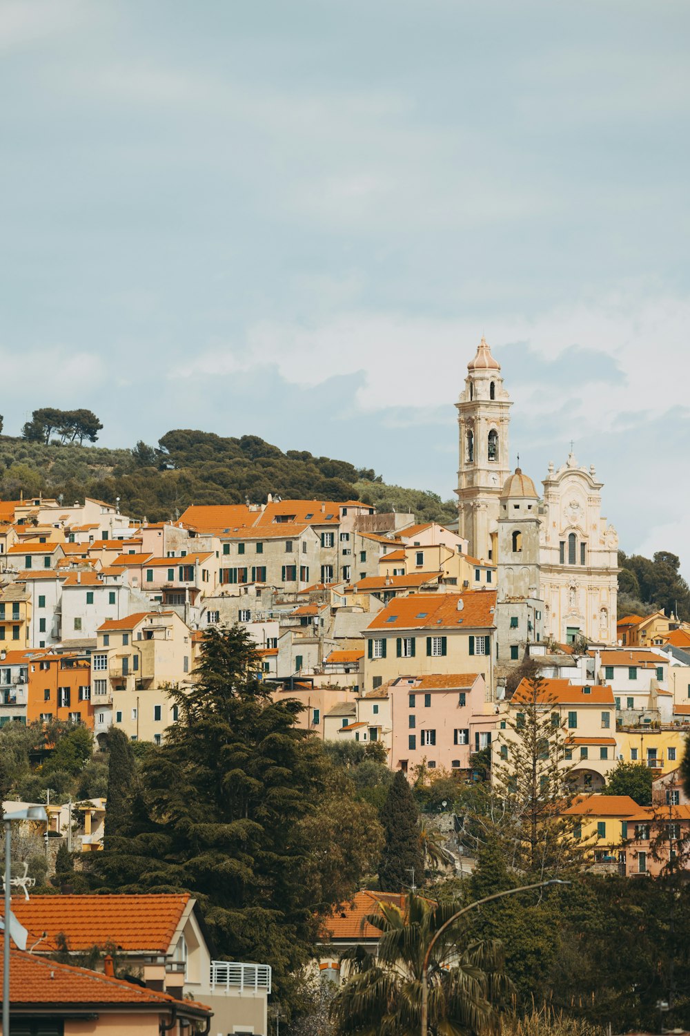
[[317,924],[297,825],[319,799],[323,750],[296,701],[271,700],[244,629],[206,631],[196,677],[169,692],[179,720],[145,760],[115,845],[93,854],[96,887],[190,892],[218,952],[270,963],[284,990]]

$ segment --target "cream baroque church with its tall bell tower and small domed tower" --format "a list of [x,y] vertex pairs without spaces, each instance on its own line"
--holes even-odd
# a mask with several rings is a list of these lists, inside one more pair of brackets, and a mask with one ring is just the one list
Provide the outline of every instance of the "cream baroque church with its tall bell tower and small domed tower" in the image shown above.
[[616,643],[618,535],[594,465],[579,467],[572,452],[549,463],[541,495],[511,471],[512,400],[483,338],[456,406],[458,531],[470,554],[497,566],[502,660],[518,659],[526,640]]

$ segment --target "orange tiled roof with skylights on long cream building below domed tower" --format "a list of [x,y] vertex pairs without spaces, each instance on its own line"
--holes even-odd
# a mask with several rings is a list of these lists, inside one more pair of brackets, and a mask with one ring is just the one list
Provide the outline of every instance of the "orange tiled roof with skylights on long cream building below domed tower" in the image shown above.
[[[458,609],[458,603],[462,608]],[[397,597],[369,623],[370,630],[491,629],[496,591],[464,594],[416,594]],[[611,699],[612,700],[612,699]]]

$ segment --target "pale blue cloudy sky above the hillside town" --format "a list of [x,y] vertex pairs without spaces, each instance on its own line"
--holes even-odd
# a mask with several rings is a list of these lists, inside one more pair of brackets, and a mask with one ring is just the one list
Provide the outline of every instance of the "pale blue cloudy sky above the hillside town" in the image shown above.
[[0,402],[453,494],[482,335],[538,483],[690,568],[687,0],[2,0]]

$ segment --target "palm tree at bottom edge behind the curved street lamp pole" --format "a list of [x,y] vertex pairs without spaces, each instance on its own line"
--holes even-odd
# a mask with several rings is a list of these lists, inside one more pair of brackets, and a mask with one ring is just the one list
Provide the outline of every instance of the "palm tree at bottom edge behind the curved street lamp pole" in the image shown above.
[[[331,1014],[338,1033],[357,1036],[418,1036],[424,955],[434,933],[458,910],[411,894],[403,910],[380,903],[365,921],[382,932],[379,954],[361,947],[343,954],[346,982]],[[458,925],[433,946],[428,969],[429,1036],[468,1036],[491,1029],[493,1002],[508,987],[498,941],[458,948]]]

